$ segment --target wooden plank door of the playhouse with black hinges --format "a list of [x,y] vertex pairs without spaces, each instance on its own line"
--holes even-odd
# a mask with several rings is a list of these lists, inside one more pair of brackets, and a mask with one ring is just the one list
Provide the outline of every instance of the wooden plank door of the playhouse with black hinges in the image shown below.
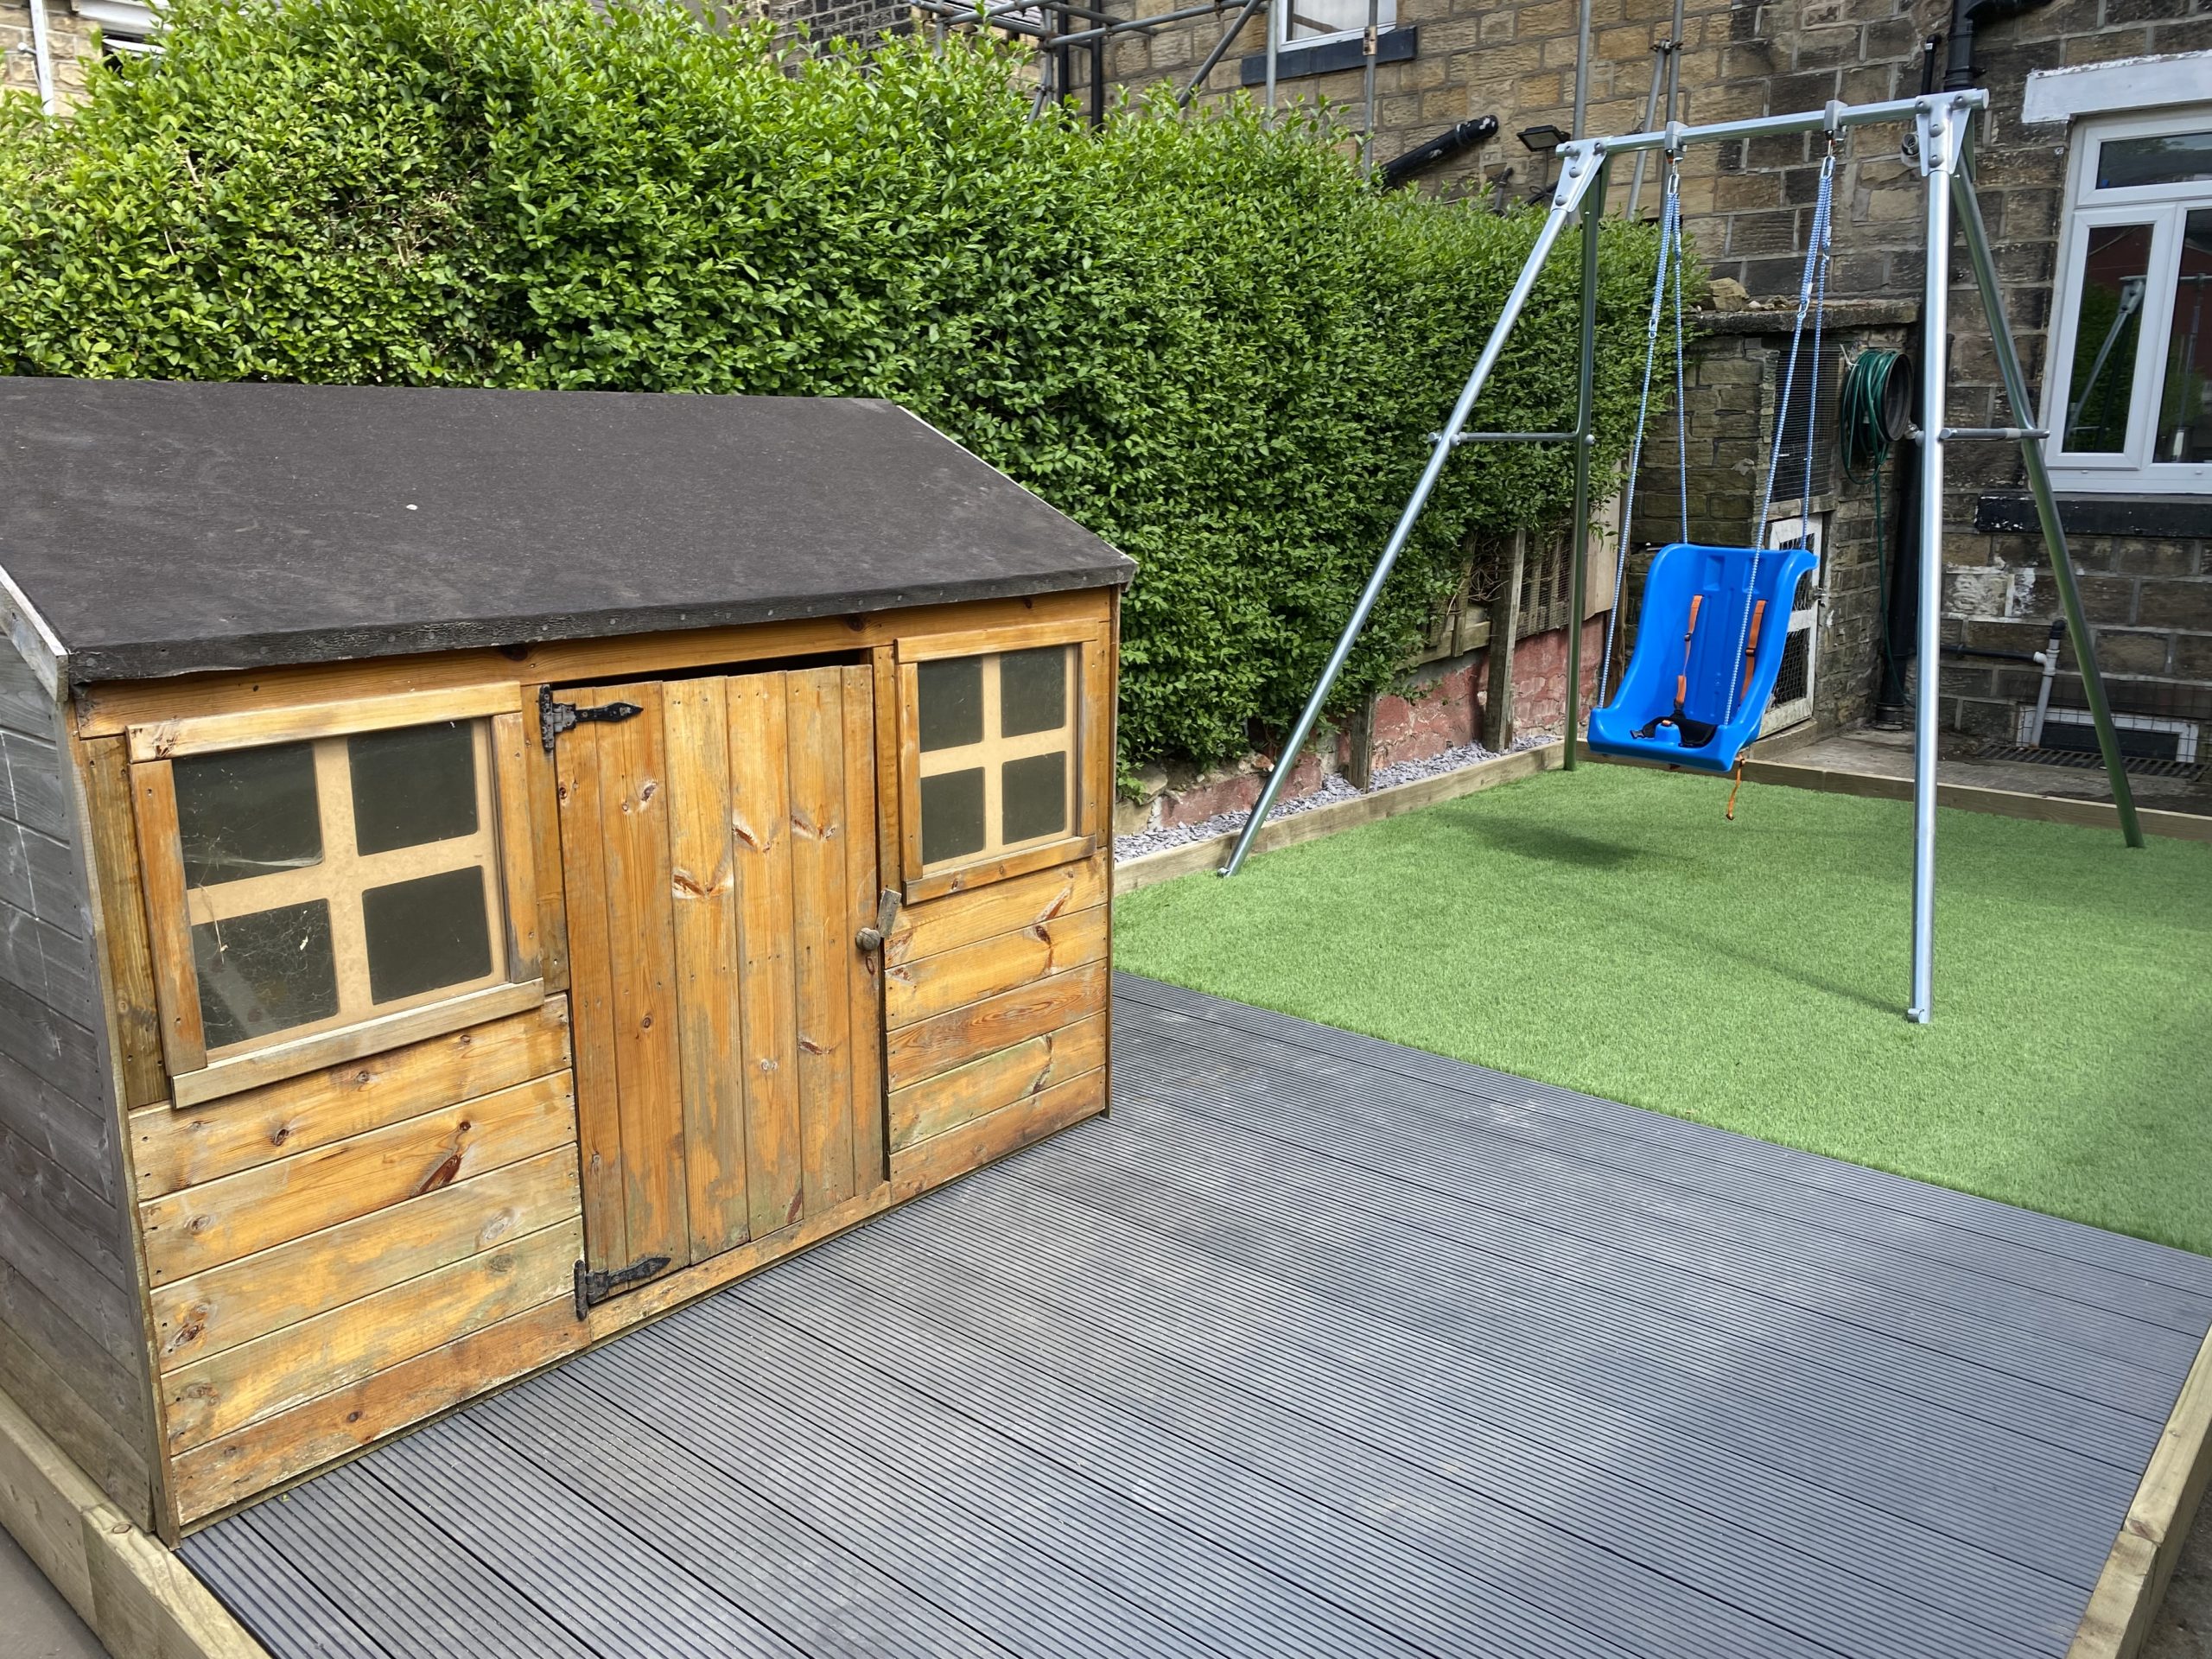
[[577,710],[553,741],[597,1301],[885,1179],[880,958],[856,942],[874,688],[794,668],[555,697]]

